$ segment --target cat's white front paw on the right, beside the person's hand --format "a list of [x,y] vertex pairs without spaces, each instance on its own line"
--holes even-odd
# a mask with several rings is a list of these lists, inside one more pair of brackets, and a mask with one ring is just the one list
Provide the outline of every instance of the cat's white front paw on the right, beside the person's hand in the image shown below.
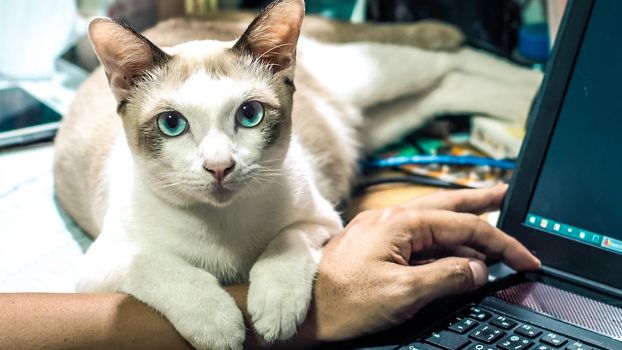
[[[306,318],[316,270],[312,261],[306,264],[303,269],[290,269],[276,261],[263,262],[251,270],[248,312],[255,330],[266,341],[291,338]],[[290,273],[283,273],[287,271]]]

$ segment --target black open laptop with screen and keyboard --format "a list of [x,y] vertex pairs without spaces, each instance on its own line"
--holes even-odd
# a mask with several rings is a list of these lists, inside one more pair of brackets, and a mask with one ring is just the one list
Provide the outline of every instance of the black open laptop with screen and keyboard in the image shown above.
[[619,38],[622,1],[569,1],[499,221],[541,271],[491,266],[487,290],[431,305],[363,347],[622,350]]

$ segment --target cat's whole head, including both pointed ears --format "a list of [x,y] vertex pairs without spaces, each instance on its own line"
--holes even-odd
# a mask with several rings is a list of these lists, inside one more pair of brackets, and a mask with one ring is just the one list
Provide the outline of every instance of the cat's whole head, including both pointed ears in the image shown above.
[[301,6],[276,2],[237,42],[190,42],[166,53],[115,22],[91,24],[134,159],[160,196],[224,206],[278,181]]

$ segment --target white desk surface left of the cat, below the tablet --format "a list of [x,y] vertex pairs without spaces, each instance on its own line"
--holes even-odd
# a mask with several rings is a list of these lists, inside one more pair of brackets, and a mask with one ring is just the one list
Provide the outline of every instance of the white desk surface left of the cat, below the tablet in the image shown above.
[[91,240],[54,201],[50,143],[0,153],[0,292],[72,292]]

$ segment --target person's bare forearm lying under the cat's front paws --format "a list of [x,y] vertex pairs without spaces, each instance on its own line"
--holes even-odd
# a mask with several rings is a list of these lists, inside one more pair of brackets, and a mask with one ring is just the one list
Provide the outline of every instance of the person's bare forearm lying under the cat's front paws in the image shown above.
[[[247,285],[225,288],[246,312]],[[0,294],[0,349],[192,349],[160,314],[126,294]],[[282,348],[314,344],[314,320]],[[279,348],[248,334],[245,348]]]

